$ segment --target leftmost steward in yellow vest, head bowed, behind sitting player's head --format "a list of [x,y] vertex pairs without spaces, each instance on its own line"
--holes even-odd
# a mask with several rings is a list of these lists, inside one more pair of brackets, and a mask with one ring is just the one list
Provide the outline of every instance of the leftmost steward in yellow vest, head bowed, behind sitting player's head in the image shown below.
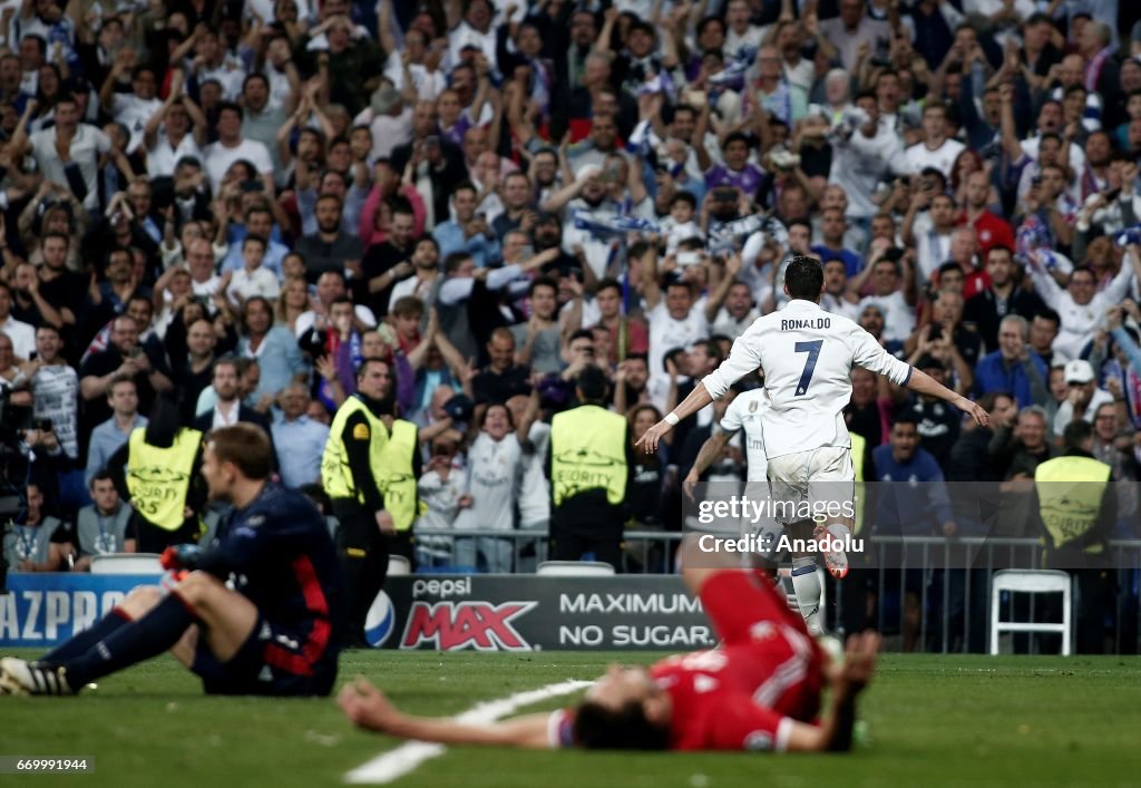
[[207,500],[202,433],[178,421],[178,404],[160,396],[147,426],[131,431],[107,461],[115,488],[133,509],[127,538],[137,539],[139,553],[162,553],[201,536],[197,513]]

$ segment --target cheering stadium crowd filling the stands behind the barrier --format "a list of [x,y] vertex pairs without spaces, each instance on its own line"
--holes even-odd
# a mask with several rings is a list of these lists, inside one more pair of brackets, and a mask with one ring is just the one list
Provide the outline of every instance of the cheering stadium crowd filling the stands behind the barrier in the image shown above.
[[[50,526],[6,540],[15,571],[122,549],[113,460],[165,397],[186,427],[261,424],[319,500],[365,357],[419,427],[416,526],[541,532],[582,371],[637,439],[784,306],[793,255],[830,312],[992,413],[857,370],[864,479],[1030,479],[1075,420],[1138,479],[1133,3],[0,9],[3,460],[17,522]],[[633,459],[629,525],[681,528],[729,399]],[[712,476],[744,477],[741,440]],[[954,534],[929,504],[907,532]]]

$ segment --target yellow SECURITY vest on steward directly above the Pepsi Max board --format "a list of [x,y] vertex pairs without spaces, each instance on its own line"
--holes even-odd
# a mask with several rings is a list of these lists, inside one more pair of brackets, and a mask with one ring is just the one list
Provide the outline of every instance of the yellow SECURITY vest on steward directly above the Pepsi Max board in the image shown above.
[[626,420],[598,405],[580,405],[551,419],[555,505],[604,489],[614,505],[626,497]]

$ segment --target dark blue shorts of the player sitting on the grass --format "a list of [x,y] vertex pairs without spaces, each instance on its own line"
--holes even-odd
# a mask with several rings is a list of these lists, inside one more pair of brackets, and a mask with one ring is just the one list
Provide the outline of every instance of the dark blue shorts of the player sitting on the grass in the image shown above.
[[[191,670],[202,678],[207,694],[327,695],[337,681],[337,645],[327,638],[322,642],[321,626],[314,625],[306,636],[298,627],[268,621],[259,613],[253,632],[225,662],[200,634]],[[319,659],[314,659],[315,644],[323,645]]]

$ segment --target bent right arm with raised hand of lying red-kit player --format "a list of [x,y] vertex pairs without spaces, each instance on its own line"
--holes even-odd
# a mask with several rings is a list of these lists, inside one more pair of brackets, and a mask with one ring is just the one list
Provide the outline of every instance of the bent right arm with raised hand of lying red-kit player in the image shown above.
[[832,713],[819,726],[794,722],[785,745],[787,750],[847,753],[851,749],[856,698],[872,681],[879,651],[877,633],[868,630],[848,638],[844,661],[830,676]]

